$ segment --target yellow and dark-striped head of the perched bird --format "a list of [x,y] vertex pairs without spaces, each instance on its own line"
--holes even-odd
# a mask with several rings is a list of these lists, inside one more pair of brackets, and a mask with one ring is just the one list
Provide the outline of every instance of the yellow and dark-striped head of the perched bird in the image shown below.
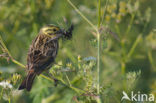
[[58,39],[64,33],[64,30],[53,24],[46,25],[41,28],[40,33],[53,39]]

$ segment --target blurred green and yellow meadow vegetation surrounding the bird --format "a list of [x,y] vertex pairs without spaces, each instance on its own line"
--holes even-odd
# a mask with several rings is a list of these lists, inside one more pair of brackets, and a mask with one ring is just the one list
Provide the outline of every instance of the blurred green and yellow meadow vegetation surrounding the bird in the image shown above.
[[[72,3],[97,26],[97,0]],[[101,0],[102,103],[120,103],[123,90],[156,97],[155,18],[155,0]],[[56,64],[50,69],[67,86],[59,83],[54,87],[53,82],[39,76],[31,92],[18,91],[25,70],[11,60],[8,63],[0,49],[0,103],[96,103],[97,39],[86,20],[67,0],[0,0],[0,36],[13,58],[24,65],[42,26],[55,24],[67,29],[71,23],[73,38],[60,40]],[[5,87],[4,81],[12,88]],[[85,93],[70,88],[70,84]]]

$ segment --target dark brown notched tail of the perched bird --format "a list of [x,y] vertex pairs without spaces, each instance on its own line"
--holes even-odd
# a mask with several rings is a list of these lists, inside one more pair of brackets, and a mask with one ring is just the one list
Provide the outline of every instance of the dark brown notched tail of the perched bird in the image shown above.
[[18,88],[18,90],[26,88],[27,91],[30,91],[35,77],[36,77],[36,73],[29,72],[26,78],[23,80],[20,87]]

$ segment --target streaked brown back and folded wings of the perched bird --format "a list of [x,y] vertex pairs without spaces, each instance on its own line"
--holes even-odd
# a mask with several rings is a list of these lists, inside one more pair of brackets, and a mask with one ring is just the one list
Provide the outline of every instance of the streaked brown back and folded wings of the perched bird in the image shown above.
[[40,34],[33,41],[27,57],[28,70],[34,70],[37,74],[40,74],[54,62],[57,55],[58,42],[51,41],[46,44],[45,41],[48,41],[48,39],[45,35]]

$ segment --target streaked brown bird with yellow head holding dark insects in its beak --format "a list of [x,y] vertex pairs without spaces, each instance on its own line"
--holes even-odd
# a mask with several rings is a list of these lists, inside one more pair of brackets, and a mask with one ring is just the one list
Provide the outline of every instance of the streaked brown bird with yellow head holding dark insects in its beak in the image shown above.
[[30,45],[27,55],[27,75],[19,86],[19,90],[30,91],[37,75],[50,69],[59,49],[59,38],[71,38],[73,26],[67,31],[54,24],[43,26]]

